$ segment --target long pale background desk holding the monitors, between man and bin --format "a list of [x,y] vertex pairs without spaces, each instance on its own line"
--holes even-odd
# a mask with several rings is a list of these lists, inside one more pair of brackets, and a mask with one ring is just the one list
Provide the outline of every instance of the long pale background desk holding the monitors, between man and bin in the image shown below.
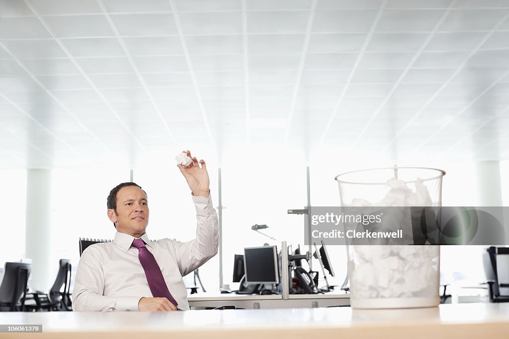
[[281,295],[197,293],[187,296],[191,307],[218,307],[233,305],[237,309],[294,309],[302,307],[329,307],[350,305],[345,292],[326,294],[295,294],[284,300]]

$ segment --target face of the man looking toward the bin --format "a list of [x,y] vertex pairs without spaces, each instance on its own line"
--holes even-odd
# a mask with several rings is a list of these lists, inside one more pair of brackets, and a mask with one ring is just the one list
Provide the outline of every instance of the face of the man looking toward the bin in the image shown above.
[[140,237],[149,223],[147,196],[136,186],[126,186],[117,193],[117,212],[108,209],[108,218],[117,226],[117,231]]

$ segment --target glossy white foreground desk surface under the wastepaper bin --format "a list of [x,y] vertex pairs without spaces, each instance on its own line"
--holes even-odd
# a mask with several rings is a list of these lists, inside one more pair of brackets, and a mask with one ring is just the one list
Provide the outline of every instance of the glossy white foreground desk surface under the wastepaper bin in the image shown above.
[[3,312],[0,324],[43,324],[42,333],[2,333],[2,338],[463,339],[506,337],[509,303],[444,304],[400,310],[332,307],[164,313]]

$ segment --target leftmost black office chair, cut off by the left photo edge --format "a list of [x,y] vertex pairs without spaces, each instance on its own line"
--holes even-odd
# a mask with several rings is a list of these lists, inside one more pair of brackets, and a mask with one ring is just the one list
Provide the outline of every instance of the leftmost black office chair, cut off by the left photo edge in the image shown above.
[[0,311],[24,311],[26,285],[31,271],[31,264],[5,263],[4,278],[0,285]]

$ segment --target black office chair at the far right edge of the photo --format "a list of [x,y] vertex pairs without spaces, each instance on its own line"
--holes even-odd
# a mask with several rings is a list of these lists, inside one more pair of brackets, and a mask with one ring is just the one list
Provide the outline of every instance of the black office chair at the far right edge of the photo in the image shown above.
[[509,302],[509,248],[494,247],[483,253],[491,302]]

